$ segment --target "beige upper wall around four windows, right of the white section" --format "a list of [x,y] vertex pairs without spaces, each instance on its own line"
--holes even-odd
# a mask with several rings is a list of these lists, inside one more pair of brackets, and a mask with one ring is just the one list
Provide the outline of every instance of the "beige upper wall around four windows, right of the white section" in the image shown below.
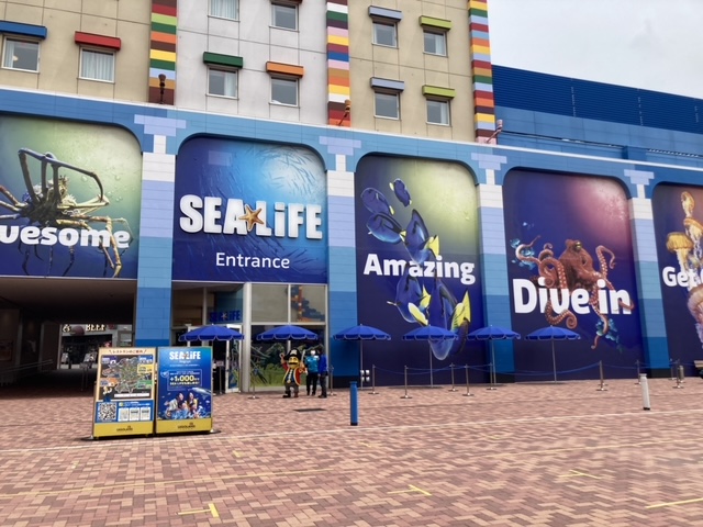
[[[372,44],[369,5],[401,11],[398,48]],[[424,53],[420,16],[451,21],[447,32],[447,56]],[[349,69],[352,74],[352,125],[402,135],[454,141],[475,141],[469,15],[467,0],[373,0],[349,2]],[[405,90],[400,97],[400,120],[373,116],[371,77],[400,80]],[[427,124],[424,85],[451,88],[451,125]]]

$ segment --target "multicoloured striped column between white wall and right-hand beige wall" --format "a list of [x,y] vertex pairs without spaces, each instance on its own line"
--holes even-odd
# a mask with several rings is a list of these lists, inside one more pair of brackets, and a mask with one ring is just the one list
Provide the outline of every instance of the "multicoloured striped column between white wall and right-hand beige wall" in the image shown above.
[[352,126],[349,112],[349,8],[327,1],[327,122]]

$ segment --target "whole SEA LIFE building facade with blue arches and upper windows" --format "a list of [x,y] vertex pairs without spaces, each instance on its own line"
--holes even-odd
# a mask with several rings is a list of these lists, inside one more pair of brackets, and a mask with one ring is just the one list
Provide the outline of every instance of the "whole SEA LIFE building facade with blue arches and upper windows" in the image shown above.
[[[280,324],[343,383],[551,378],[549,344],[466,339],[488,325],[577,332],[568,378],[694,371],[700,101],[494,69],[481,1],[81,9],[0,2],[0,288],[133,284],[136,346],[234,325],[231,389],[275,382]],[[0,365],[57,356],[33,313],[2,309]],[[391,341],[332,338],[359,323]],[[427,325],[460,338],[403,340]]]

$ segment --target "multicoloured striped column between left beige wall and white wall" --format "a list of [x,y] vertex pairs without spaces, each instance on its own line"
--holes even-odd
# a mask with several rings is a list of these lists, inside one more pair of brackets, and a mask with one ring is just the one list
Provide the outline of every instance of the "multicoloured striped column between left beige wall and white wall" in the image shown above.
[[174,104],[178,0],[152,0],[149,102]]

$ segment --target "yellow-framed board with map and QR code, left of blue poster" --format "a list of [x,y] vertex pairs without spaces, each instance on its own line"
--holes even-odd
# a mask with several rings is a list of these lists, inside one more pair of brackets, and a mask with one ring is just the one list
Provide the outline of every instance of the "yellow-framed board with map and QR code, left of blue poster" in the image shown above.
[[156,348],[100,348],[92,436],[154,433]]

